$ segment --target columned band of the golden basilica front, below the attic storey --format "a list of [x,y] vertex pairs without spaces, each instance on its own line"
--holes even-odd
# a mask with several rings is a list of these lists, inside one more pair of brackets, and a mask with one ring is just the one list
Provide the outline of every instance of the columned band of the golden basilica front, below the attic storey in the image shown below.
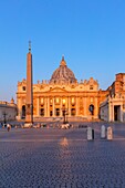
[[[34,102],[35,101],[35,102]],[[62,117],[63,111],[66,111],[67,117],[76,116],[91,118],[88,106],[91,105],[88,96],[66,96],[66,95],[49,95],[49,96],[34,96],[33,106],[35,108],[34,117]],[[23,98],[18,98],[19,113],[18,118],[22,116],[22,106],[24,105]],[[94,118],[98,117],[97,97],[93,97]],[[43,114],[41,114],[43,111]],[[56,114],[59,112],[59,114]]]

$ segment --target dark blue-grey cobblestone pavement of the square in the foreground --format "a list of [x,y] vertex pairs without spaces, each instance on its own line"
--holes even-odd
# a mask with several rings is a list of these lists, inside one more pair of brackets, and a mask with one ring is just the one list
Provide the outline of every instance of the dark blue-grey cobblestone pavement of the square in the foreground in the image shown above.
[[113,140],[91,126],[92,142],[85,128],[0,128],[0,188],[125,188],[125,125]]

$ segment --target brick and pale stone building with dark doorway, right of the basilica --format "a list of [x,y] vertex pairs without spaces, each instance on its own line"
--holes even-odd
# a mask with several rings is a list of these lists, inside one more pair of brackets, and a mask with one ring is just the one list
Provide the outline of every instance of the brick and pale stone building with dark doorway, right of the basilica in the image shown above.
[[107,88],[108,95],[101,103],[101,118],[107,122],[125,122],[125,73],[116,74]]

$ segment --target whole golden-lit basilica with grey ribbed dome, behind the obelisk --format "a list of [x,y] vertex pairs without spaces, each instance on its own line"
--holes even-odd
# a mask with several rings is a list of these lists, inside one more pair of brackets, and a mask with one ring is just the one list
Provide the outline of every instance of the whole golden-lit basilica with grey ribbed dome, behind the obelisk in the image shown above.
[[[98,82],[76,80],[64,56],[49,81],[33,84],[33,119],[52,121],[65,117],[67,121],[98,119],[100,105],[110,91],[102,91]],[[27,80],[18,82],[18,119],[25,118]]]

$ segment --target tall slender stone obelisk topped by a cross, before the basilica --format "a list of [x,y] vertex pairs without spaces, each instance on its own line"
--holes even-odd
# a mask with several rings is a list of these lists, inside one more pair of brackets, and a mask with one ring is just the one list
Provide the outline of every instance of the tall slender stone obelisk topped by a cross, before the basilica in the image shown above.
[[24,127],[33,125],[33,87],[32,87],[32,54],[29,41],[29,53],[27,54],[27,97],[25,97],[25,124]]

